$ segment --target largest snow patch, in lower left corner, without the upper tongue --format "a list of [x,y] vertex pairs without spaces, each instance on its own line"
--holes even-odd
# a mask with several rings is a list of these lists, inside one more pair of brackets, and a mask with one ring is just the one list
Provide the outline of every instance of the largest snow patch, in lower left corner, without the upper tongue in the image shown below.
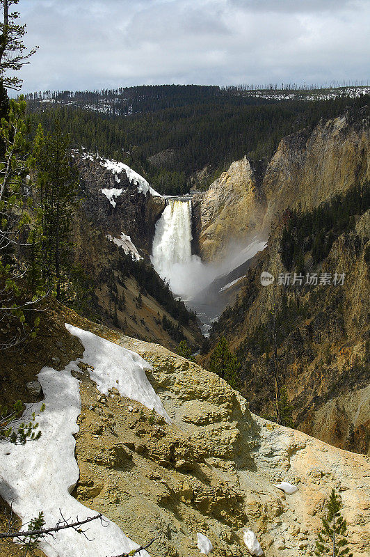
[[[47,528],[56,525],[61,512],[73,520],[97,515],[71,495],[79,479],[73,434],[79,431],[77,418],[81,412],[79,381],[71,375],[74,368],[72,362],[62,371],[42,368],[38,374],[45,394],[45,411],[38,418],[40,439],[24,446],[0,444],[1,495],[13,505],[23,524],[40,511],[45,513]],[[41,404],[26,406],[28,411],[38,412]],[[68,528],[41,540],[40,549],[47,557],[106,557],[139,547],[116,524],[104,520],[104,526],[99,519],[88,524],[89,540]],[[140,551],[140,557],[149,554]]]

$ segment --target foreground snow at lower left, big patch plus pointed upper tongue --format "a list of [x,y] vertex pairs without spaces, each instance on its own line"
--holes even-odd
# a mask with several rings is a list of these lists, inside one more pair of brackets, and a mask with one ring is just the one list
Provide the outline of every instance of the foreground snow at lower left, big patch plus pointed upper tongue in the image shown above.
[[[121,395],[154,408],[170,422],[147,380],[144,370],[151,366],[145,360],[89,331],[67,324],[66,327],[83,343],[83,361],[93,367],[90,377],[101,393],[108,393],[108,389],[115,386]],[[38,420],[42,430],[40,439],[24,446],[0,444],[0,493],[13,505],[23,523],[40,511],[45,513],[46,527],[54,526],[61,519],[60,510],[64,517],[78,517],[79,520],[97,515],[71,495],[79,478],[73,435],[79,431],[77,418],[81,412],[81,398],[79,380],[71,375],[77,368],[77,361],[69,363],[62,371],[42,368],[38,374],[45,394],[45,411]],[[41,404],[28,407],[38,412]],[[106,527],[99,520],[89,524],[88,537],[92,541],[70,528],[40,542],[40,549],[47,557],[106,557],[129,553],[139,547],[116,524],[106,520]],[[149,557],[147,551],[140,551],[138,555]]]

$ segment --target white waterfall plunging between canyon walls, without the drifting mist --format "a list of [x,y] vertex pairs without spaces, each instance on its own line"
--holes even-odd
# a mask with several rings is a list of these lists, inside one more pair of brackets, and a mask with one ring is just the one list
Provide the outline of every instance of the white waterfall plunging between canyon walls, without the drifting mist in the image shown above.
[[191,201],[169,199],[156,223],[152,263],[156,272],[168,281],[172,292],[187,297],[198,290],[196,269],[202,266],[191,255]]

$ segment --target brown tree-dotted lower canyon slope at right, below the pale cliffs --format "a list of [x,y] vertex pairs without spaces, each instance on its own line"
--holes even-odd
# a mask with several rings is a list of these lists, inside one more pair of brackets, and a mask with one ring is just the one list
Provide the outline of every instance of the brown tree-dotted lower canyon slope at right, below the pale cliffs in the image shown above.
[[[287,388],[296,427],[339,448],[370,455],[369,219],[370,210],[353,230],[337,237],[323,260],[321,271],[344,274],[343,285],[297,291],[282,285],[272,288],[279,327],[285,327],[278,340],[280,382]],[[255,345],[261,325],[269,330],[272,298],[270,287],[262,287],[259,279],[263,271],[275,277],[287,272],[280,238],[277,226],[259,262],[248,271],[239,300],[220,317],[211,337],[213,346],[225,335],[233,350],[253,339],[252,345],[243,347],[241,379],[252,411],[264,416],[275,415],[271,346],[255,350]],[[307,272],[308,265],[309,260]],[[297,301],[299,306],[294,305]],[[285,314],[284,304],[289,308]],[[307,312],[300,313],[299,307]],[[270,332],[266,338],[271,341]]]

